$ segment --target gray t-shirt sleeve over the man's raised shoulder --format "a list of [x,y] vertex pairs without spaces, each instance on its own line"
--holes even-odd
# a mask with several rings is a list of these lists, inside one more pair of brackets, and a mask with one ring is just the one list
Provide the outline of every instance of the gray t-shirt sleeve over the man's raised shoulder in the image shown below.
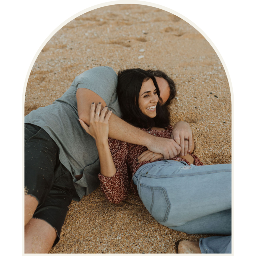
[[116,91],[117,75],[113,68],[95,67],[76,76],[74,84],[77,89],[85,88],[97,93],[109,105]]

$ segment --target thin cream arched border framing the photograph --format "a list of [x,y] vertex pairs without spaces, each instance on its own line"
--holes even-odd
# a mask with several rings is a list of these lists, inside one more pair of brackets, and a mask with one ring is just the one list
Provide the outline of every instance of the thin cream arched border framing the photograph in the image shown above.
[[[231,93],[231,102],[232,102],[232,254],[235,254],[235,243],[234,243],[234,239],[235,239],[235,226],[234,226],[234,217],[235,217],[235,189],[234,189],[234,171],[235,171],[235,95],[234,95],[234,88],[233,88],[233,84],[232,84],[232,80],[231,80],[231,76],[229,74],[228,71],[228,67],[227,64],[225,62],[225,60],[223,59],[219,49],[217,48],[217,46],[214,44],[214,42],[212,41],[212,39],[204,32],[203,29],[201,29],[198,25],[196,25],[196,23],[194,23],[192,20],[189,20],[186,16],[184,16],[183,14],[169,8],[166,7],[164,5],[161,4],[155,4],[155,3],[151,3],[148,1],[140,1],[140,0],[116,0],[116,1],[109,1],[109,2],[104,2],[104,3],[100,3],[100,4],[95,4],[93,6],[87,7],[83,10],[81,10],[80,12],[76,12],[74,15],[70,16],[68,19],[64,20],[62,23],[60,23],[60,25],[58,25],[55,29],[52,30],[52,32],[44,39],[44,41],[42,42],[42,44],[38,47],[34,57],[32,58],[25,79],[24,79],[24,84],[23,84],[23,89],[22,89],[22,95],[21,95],[21,254],[24,253],[24,104],[25,104],[25,92],[26,92],[26,87],[27,87],[27,83],[28,83],[28,77],[29,74],[32,70],[32,67],[39,55],[39,53],[42,51],[42,49],[44,48],[45,44],[47,44],[47,42],[52,38],[52,36],[59,31],[63,26],[65,26],[68,22],[70,22],[71,20],[75,19],[76,17],[95,10],[97,8],[100,7],[104,7],[104,6],[108,6],[108,5],[114,5],[114,4],[141,4],[141,5],[148,5],[148,6],[152,6],[152,7],[156,7],[159,9],[162,9],[164,11],[170,12],[178,17],[180,17],[182,20],[185,20],[186,22],[188,22],[191,26],[193,26],[194,28],[196,28],[196,30],[198,32],[200,32],[205,39],[211,44],[212,48],[214,49],[214,51],[217,53],[218,57],[220,58],[220,61],[223,65],[223,68],[226,72],[226,75],[228,77],[228,83],[229,83],[229,87],[230,87],[230,93]],[[29,254],[26,254],[29,255]],[[42,254],[41,254],[42,255]],[[81,254],[82,255],[82,254]],[[95,255],[95,254],[92,254]]]

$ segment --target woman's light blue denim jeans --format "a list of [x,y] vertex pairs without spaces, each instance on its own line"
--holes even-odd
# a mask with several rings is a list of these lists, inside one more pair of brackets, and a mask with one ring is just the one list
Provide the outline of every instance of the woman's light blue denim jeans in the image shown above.
[[[132,178],[150,214],[188,234],[231,235],[231,164],[144,164]],[[231,236],[200,238],[202,253],[231,253]]]

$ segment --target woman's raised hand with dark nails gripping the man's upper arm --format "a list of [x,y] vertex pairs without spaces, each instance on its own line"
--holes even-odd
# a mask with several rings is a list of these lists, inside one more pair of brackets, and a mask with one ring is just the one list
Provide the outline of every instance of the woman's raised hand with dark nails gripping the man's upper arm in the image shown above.
[[112,111],[108,111],[108,114],[105,117],[105,114],[108,110],[107,106],[101,109],[101,103],[98,104],[95,111],[95,104],[92,103],[90,110],[90,126],[88,127],[83,120],[79,119],[78,121],[84,128],[84,130],[90,134],[97,141],[108,141],[108,119]]

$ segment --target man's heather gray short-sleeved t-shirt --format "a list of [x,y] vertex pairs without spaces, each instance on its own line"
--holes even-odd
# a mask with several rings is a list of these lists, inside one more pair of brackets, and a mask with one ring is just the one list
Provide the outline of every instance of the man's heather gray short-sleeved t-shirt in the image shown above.
[[[86,88],[97,93],[120,117],[116,86],[117,75],[112,68],[92,68],[76,76],[70,88],[51,105],[25,116],[25,123],[42,127],[58,145],[60,162],[71,172],[80,198],[99,186],[100,161],[95,140],[78,121],[76,91]],[[83,174],[81,180],[75,178],[79,174]]]

